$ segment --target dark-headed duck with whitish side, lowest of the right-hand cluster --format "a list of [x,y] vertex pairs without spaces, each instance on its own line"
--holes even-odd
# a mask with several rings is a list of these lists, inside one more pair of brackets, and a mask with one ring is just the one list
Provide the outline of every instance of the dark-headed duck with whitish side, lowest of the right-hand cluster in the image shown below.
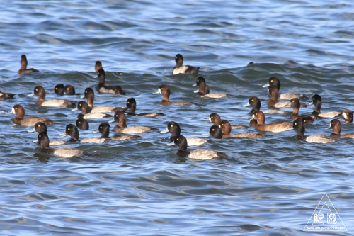
[[297,134],[294,137],[298,140],[316,143],[328,143],[338,141],[335,137],[330,137],[326,135],[304,135],[305,125],[302,122],[301,118],[297,118],[296,120],[294,120],[294,122],[292,123],[292,128],[297,131]]

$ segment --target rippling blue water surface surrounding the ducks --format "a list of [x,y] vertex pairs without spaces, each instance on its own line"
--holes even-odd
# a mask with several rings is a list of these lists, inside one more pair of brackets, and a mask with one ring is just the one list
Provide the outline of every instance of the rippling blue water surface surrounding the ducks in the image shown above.
[[[108,84],[127,91],[96,93],[96,106],[125,106],[135,97],[137,113],[167,114],[128,116],[128,125],[164,130],[174,120],[183,135],[202,137],[212,112],[247,125],[250,109],[242,105],[256,95],[267,109],[261,85],[271,76],[280,78],[281,92],[320,94],[322,111],[353,110],[351,1],[6,1],[0,9],[0,88],[16,94],[1,101],[1,111],[20,103],[26,116],[57,121],[48,127],[50,140],[65,139],[59,133],[77,113],[40,108],[28,94],[42,85],[55,99],[48,92],[59,82],[82,93],[97,84],[96,60]],[[177,53],[200,67],[212,92],[234,97],[196,97],[195,75],[171,74]],[[17,75],[22,54],[40,73]],[[152,93],[161,84],[171,87],[171,101],[201,106],[160,106],[161,95]],[[325,192],[348,232],[311,234],[353,232],[353,140],[305,143],[294,130],[258,140],[207,137],[213,142],[205,147],[229,158],[198,161],[178,157],[177,147],[166,145],[169,134],[155,132],[72,144],[95,154],[62,159],[40,152],[37,134],[13,126],[13,114],[1,116],[1,235],[302,235]],[[307,134],[329,135],[330,120],[316,120]],[[108,119],[89,120],[80,137],[97,137],[92,131],[102,121]],[[353,123],[341,122],[342,133],[354,132]]]

